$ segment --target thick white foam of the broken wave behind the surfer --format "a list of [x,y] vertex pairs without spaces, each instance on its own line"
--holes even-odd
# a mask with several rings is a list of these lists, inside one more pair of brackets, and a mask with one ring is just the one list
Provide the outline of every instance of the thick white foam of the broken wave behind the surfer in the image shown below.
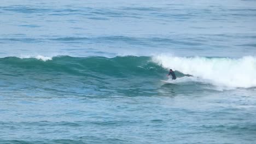
[[256,58],[175,57],[159,55],[153,61],[164,68],[200,77],[207,82],[224,87],[256,87]]

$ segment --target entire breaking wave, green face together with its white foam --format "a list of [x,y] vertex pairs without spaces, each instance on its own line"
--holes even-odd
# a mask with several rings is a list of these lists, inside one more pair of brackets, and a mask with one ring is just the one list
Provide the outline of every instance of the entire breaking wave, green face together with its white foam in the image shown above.
[[153,78],[156,82],[165,79],[167,70],[173,69],[178,77],[173,83],[179,85],[203,83],[226,88],[256,87],[256,58],[252,56],[235,59],[166,55],[113,58],[39,55],[0,58],[0,66],[2,75],[130,76],[136,79]]

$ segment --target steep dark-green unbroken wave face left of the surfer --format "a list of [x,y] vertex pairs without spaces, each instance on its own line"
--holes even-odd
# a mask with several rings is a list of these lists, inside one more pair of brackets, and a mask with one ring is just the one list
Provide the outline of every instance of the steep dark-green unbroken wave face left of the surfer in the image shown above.
[[[18,71],[34,73],[66,73],[69,75],[97,75],[107,76],[154,76],[166,72],[164,68],[150,61],[150,57],[5,57],[0,59],[2,73],[9,71],[14,74]],[[18,75],[17,75],[18,76]]]

